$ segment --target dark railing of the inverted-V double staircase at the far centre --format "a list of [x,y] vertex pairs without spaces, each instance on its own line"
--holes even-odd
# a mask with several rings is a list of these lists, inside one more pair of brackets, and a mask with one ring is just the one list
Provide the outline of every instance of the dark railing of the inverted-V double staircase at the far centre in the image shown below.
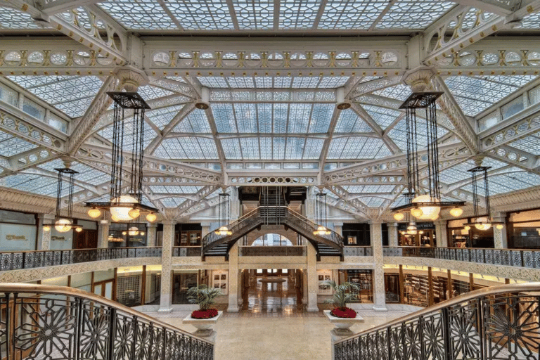
[[307,238],[314,238],[323,243],[331,242],[339,248],[343,246],[343,238],[340,234],[330,231],[328,235],[314,235],[313,232],[317,229],[318,225],[286,206],[259,206],[257,209],[248,212],[248,214],[245,214],[227,226],[232,233],[230,236],[219,235],[214,231],[208,233],[203,238],[203,249],[208,248],[212,243],[221,242],[221,240],[225,240],[226,238],[238,238],[238,236],[242,236],[245,233],[246,229],[252,229],[255,226],[264,224],[269,219],[272,221],[274,217],[269,217],[269,214],[276,214],[275,219],[279,219],[283,224],[288,224],[291,227],[294,226],[295,230],[302,231],[302,235]]

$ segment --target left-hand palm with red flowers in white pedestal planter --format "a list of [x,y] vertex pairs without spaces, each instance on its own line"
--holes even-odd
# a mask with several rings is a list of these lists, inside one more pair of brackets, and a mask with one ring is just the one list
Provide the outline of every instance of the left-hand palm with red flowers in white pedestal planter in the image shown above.
[[[210,307],[214,304],[216,297],[221,295],[219,288],[210,288],[208,285],[201,284],[188,289],[188,301],[191,304],[198,304],[199,309],[187,316],[182,323],[191,323],[199,330],[209,330],[214,323],[217,323],[219,316],[223,311]],[[210,330],[209,330],[210,331]],[[200,334],[203,335],[203,334]]]

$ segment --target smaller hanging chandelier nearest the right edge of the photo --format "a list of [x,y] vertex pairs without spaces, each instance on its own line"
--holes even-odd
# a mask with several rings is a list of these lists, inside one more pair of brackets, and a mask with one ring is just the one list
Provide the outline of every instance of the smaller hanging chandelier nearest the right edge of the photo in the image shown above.
[[[475,216],[473,221],[465,224],[465,230],[469,230],[471,226],[475,226],[478,230],[489,230],[491,226],[496,226],[497,229],[503,229],[503,223],[500,221],[493,221],[491,219],[491,206],[489,205],[489,184],[487,181],[487,170],[491,169],[489,166],[477,166],[473,169],[467,170],[471,174],[471,180],[473,184],[473,211]],[[486,212],[485,214],[480,214],[480,195],[479,190],[482,191],[483,185],[483,194],[484,195],[484,205]]]

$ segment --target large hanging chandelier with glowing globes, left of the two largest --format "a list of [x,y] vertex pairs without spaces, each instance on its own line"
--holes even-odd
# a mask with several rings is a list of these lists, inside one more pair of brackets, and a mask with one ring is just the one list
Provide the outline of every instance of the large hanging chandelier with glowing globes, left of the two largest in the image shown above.
[[[144,112],[150,109],[148,104],[136,92],[108,92],[108,96],[115,102],[113,118],[113,150],[110,172],[110,202],[86,203],[91,207],[88,211],[90,217],[96,219],[101,216],[101,210],[109,210],[113,221],[132,221],[141,213],[146,213],[146,220],[153,222],[157,218],[154,212],[158,209],[143,205],[142,180],[143,180],[143,156],[144,156]],[[124,174],[124,110],[133,113],[132,126],[133,138],[131,142],[131,172],[129,185],[122,184]],[[129,114],[128,114],[129,115]],[[127,142],[129,143],[129,142]],[[127,193],[122,191],[128,187]]]

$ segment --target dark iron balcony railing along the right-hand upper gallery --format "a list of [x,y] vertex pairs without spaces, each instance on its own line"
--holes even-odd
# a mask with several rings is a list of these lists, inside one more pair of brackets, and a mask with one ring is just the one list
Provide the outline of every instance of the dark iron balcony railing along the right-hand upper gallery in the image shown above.
[[385,247],[384,256],[430,257],[432,259],[456,260],[506,266],[540,269],[540,250],[478,249],[478,248],[425,248]]

